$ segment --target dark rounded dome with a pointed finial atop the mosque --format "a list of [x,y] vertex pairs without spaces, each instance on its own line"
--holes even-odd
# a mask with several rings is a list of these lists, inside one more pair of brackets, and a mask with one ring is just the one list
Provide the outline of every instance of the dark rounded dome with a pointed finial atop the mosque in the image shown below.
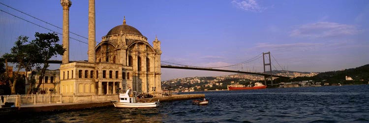
[[114,27],[106,34],[106,36],[113,35],[113,34],[119,34],[121,31],[123,32],[123,34],[135,34],[135,35],[143,36],[142,33],[138,31],[136,28],[125,24],[125,17],[123,20],[123,25]]

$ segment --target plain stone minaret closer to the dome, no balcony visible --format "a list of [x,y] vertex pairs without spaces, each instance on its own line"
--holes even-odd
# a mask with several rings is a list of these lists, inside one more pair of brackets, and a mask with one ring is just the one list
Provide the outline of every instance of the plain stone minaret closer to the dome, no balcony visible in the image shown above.
[[95,55],[95,0],[89,0],[89,62],[96,62]]

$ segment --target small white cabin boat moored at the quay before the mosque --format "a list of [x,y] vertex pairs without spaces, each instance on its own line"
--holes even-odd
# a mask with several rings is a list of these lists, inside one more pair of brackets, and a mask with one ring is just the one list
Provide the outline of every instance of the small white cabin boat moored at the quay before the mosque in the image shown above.
[[[133,97],[130,94],[131,90],[120,90],[119,92],[119,101],[114,100],[111,101],[115,107],[118,108],[148,108],[148,107],[157,107],[159,106],[159,100],[155,102],[137,102],[136,97],[137,93],[135,92],[135,96]],[[131,96],[129,96],[131,95]]]

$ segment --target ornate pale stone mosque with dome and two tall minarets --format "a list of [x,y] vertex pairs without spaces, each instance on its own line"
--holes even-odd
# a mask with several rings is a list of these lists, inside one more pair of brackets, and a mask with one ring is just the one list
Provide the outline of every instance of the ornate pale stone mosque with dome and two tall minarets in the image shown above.
[[75,95],[117,94],[119,89],[159,93],[160,41],[153,46],[136,28],[126,24],[112,28],[101,42],[95,41],[95,1],[89,0],[88,61],[69,62],[70,0],[61,0],[63,38],[66,49],[60,66],[60,93]]

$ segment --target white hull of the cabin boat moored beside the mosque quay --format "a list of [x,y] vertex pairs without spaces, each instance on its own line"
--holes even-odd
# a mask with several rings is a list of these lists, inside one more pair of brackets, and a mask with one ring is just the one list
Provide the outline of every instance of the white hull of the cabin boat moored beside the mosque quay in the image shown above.
[[126,102],[112,102],[117,108],[149,108],[159,106],[159,102],[142,102],[142,103],[126,103]]

